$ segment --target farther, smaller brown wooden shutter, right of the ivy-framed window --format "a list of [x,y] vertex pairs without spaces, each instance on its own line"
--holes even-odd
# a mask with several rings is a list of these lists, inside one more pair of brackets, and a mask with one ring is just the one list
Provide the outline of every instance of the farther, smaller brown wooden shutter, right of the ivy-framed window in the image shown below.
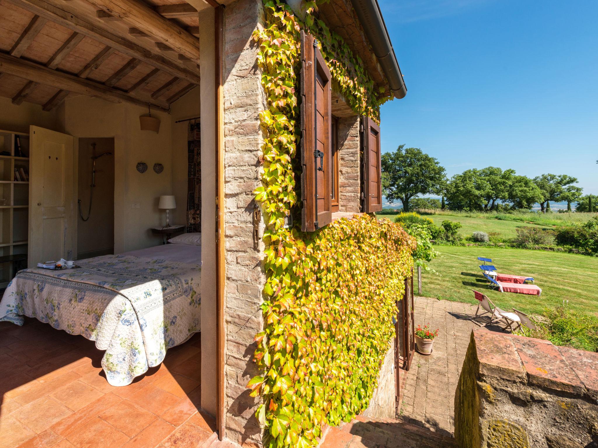
[[382,210],[382,151],[380,126],[368,116],[362,117],[364,130],[364,211]]

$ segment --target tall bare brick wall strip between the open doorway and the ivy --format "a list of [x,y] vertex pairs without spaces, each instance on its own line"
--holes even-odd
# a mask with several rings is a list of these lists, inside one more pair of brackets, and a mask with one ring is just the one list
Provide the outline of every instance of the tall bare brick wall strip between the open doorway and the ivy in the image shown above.
[[[252,32],[264,23],[262,3],[239,0],[225,8],[225,436],[261,446],[254,416],[258,400],[246,384],[258,370],[252,361],[254,336],[263,329],[260,309],[266,277],[263,244],[254,249],[253,191],[260,183],[263,136],[258,113],[266,108],[261,73],[255,64]],[[262,220],[263,221],[263,220]],[[263,234],[263,222],[261,232]]]

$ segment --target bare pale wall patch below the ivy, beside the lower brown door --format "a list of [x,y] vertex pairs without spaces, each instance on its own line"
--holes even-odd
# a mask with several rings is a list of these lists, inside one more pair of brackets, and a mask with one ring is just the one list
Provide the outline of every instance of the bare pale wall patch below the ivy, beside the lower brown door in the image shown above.
[[362,415],[369,418],[396,418],[395,402],[395,338],[390,341],[378,376],[378,386],[372,395],[368,409]]

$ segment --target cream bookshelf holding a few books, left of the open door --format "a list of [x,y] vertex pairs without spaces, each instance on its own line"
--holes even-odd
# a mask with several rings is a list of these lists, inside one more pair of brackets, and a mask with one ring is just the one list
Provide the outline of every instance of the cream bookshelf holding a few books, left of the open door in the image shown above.
[[13,259],[27,254],[28,176],[29,134],[0,130],[0,289],[16,274]]

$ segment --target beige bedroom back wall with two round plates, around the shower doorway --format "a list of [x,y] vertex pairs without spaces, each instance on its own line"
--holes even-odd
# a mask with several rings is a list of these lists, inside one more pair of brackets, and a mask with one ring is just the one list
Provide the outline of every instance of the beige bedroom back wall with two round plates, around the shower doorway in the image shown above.
[[[160,118],[160,132],[141,131],[139,116],[147,109],[115,104],[87,96],[69,97],[63,106],[63,129],[75,137],[114,137],[114,252],[121,253],[160,244],[160,235],[150,228],[165,223],[158,210],[158,197],[172,194],[172,135],[170,116],[152,111]],[[148,170],[136,170],[145,162]],[[154,163],[164,165],[154,173]],[[139,208],[133,208],[139,204]]]

